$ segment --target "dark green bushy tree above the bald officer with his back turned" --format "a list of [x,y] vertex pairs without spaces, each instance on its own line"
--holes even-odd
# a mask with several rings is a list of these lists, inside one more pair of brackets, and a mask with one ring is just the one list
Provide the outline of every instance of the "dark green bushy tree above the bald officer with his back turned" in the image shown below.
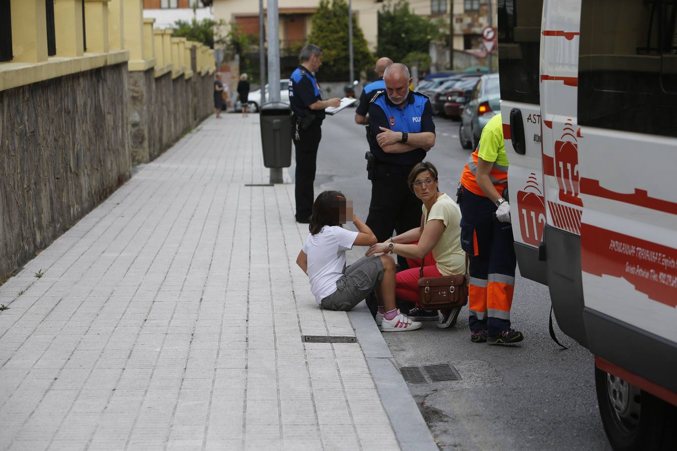
[[430,41],[441,37],[439,25],[417,16],[406,0],[384,3],[378,11],[378,55],[394,62],[411,60],[410,54],[428,53]]

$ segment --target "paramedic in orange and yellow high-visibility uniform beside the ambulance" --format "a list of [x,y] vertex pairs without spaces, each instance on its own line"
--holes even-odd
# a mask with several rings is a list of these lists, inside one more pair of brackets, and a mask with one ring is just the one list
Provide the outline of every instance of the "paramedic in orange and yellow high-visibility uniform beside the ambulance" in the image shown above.
[[510,344],[524,339],[510,327],[517,260],[510,205],[502,196],[507,186],[508,157],[503,122],[497,114],[482,130],[461,176],[461,245],[470,256],[468,323],[474,343]]

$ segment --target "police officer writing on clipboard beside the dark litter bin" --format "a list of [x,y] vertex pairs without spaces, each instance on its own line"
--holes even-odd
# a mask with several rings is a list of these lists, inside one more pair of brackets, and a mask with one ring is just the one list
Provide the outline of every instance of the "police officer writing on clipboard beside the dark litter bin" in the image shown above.
[[289,78],[289,103],[292,108],[292,136],[296,149],[296,220],[303,224],[310,222],[313,213],[313,182],[318,158],[318,147],[322,139],[322,120],[326,108],[338,107],[337,97],[322,100],[322,94],[315,80],[315,72],[322,66],[322,49],[308,44],[301,49],[301,66]]

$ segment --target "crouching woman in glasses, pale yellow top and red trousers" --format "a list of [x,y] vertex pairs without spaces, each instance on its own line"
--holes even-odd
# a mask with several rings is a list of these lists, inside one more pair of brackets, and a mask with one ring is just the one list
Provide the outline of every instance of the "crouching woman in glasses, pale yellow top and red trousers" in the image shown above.
[[[418,306],[418,279],[423,263],[424,277],[440,277],[465,272],[465,252],[460,243],[461,212],[447,194],[439,191],[437,168],[429,162],[416,164],[409,173],[408,183],[416,197],[423,202],[420,227],[392,237],[385,243],[372,245],[367,255],[391,252],[407,258],[408,270],[397,272],[395,292],[397,299],[415,302],[410,315],[416,321],[437,319],[437,327],[456,323],[460,308],[448,312],[427,312]],[[424,260],[423,260],[424,259]],[[423,260],[423,261],[422,261]],[[376,323],[383,312],[376,314]]]

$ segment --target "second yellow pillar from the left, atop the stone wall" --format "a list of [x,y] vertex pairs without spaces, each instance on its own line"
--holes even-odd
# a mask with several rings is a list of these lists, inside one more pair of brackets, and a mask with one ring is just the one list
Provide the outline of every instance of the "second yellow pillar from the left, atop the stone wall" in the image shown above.
[[84,55],[81,0],[54,0],[54,34],[57,56]]

